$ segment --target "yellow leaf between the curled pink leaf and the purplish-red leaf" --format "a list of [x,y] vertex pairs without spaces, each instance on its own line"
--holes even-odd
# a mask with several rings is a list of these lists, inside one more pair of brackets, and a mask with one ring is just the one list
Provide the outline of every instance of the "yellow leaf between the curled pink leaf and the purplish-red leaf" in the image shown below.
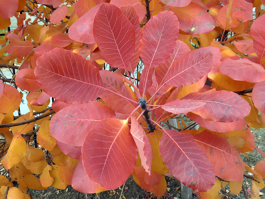
[[162,137],[162,132],[161,131],[154,131],[152,133],[148,133],[147,137],[150,141],[150,144],[152,146],[152,151],[153,151],[153,159],[151,163],[151,171],[157,173],[157,174],[166,174],[168,172],[168,169],[160,155],[160,150],[159,150],[159,141]]

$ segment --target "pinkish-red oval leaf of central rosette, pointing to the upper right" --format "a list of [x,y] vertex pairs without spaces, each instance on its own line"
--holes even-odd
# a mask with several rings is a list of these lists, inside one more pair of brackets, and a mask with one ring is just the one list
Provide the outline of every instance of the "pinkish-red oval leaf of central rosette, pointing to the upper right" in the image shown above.
[[221,53],[215,47],[201,47],[174,61],[165,76],[164,84],[183,86],[193,84],[220,61]]

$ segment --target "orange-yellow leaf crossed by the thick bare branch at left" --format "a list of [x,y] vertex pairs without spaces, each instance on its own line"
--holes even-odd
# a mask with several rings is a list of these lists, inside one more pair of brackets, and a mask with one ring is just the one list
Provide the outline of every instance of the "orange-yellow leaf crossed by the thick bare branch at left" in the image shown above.
[[[14,122],[12,123],[15,123],[15,122],[23,122],[25,120],[28,120],[28,119],[31,119],[33,118],[33,116],[30,116],[30,112],[17,118],[16,120],[14,120]],[[23,125],[20,125],[20,126],[15,126],[15,127],[10,127],[11,131],[13,133],[21,133],[21,134],[24,134],[24,133],[27,133],[29,131],[32,130],[32,128],[34,127],[34,122],[32,123],[29,123],[29,124],[23,124]]]

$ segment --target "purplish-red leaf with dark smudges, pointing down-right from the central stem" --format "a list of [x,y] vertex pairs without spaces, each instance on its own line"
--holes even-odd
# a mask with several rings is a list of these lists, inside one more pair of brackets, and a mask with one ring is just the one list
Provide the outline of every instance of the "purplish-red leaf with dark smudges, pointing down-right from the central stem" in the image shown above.
[[205,192],[215,183],[213,164],[192,135],[165,130],[159,142],[160,154],[167,168],[184,185]]

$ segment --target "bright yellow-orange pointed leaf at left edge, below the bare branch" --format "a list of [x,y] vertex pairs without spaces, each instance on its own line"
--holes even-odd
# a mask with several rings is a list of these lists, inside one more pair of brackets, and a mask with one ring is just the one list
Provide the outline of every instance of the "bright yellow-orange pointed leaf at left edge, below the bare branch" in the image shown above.
[[20,133],[15,133],[6,156],[1,161],[6,170],[19,163],[27,152],[27,144]]

